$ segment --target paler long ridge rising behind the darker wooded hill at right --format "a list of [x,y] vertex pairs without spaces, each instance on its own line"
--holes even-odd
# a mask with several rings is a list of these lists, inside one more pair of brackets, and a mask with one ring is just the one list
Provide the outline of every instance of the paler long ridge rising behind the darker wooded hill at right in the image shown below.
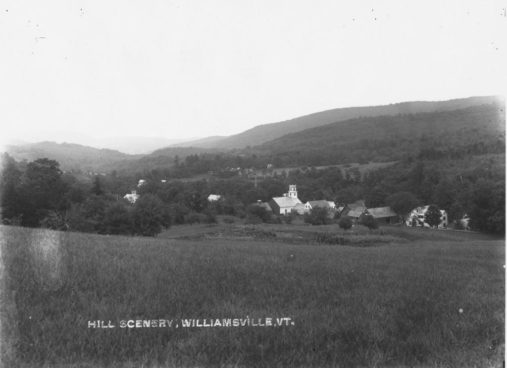
[[243,148],[246,145],[260,145],[287,133],[327,125],[338,121],[359,117],[395,116],[398,114],[417,114],[435,111],[451,111],[476,105],[485,105],[501,101],[499,96],[469,97],[449,101],[401,102],[384,106],[345,107],[286,120],[279,123],[263,124],[242,133],[210,141],[191,141],[181,145],[203,148]]

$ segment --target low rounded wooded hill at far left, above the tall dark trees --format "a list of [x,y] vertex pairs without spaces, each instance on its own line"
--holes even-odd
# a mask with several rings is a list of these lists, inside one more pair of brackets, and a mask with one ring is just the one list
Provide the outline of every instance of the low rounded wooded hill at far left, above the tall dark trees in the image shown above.
[[7,145],[5,151],[17,161],[34,161],[50,157],[62,170],[103,171],[120,160],[139,159],[143,155],[128,155],[108,149],[95,149],[74,143],[39,142]]

